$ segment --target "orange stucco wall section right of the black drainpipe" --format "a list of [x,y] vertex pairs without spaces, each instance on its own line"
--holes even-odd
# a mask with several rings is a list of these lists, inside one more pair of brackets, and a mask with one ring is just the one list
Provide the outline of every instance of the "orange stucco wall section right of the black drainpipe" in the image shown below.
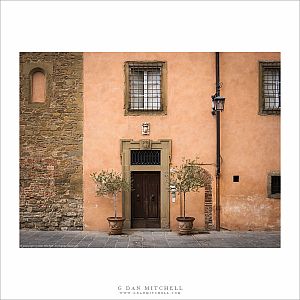
[[[280,53],[222,53],[221,220],[230,229],[279,229],[280,199],[267,198],[267,174],[280,170],[280,117],[258,115],[258,61]],[[232,182],[239,175],[240,182]]]

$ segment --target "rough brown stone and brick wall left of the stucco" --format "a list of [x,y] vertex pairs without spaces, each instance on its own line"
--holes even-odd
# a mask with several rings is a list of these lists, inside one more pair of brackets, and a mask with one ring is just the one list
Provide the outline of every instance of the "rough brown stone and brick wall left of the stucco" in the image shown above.
[[[31,102],[31,74],[46,101]],[[82,53],[20,53],[20,228],[82,230]]]

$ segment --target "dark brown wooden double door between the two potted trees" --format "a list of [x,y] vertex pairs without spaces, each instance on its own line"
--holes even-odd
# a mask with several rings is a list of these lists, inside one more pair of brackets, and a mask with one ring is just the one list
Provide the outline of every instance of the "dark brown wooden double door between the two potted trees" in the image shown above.
[[160,228],[160,172],[132,172],[132,228]]

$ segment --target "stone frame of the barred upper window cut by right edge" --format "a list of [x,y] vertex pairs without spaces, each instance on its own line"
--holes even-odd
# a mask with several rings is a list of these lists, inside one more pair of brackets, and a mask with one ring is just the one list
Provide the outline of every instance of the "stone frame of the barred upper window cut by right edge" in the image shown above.
[[261,116],[267,116],[267,115],[280,115],[280,111],[281,108],[278,109],[264,109],[264,103],[265,103],[265,99],[264,99],[264,84],[263,84],[263,73],[264,73],[264,69],[265,68],[279,68],[279,71],[281,71],[281,63],[279,60],[264,60],[264,61],[258,61],[258,65],[259,65],[259,95],[258,95],[258,99],[259,99],[259,103],[258,103],[258,114]]

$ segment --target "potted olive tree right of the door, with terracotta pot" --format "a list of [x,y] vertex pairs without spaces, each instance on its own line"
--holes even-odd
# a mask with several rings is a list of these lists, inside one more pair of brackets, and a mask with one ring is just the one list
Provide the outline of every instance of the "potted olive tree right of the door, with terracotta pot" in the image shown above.
[[170,171],[170,186],[180,197],[180,217],[177,217],[179,233],[190,234],[193,229],[194,217],[186,216],[186,194],[189,192],[197,192],[204,187],[207,181],[205,170],[200,167],[197,159],[183,159],[182,164],[175,166]]

